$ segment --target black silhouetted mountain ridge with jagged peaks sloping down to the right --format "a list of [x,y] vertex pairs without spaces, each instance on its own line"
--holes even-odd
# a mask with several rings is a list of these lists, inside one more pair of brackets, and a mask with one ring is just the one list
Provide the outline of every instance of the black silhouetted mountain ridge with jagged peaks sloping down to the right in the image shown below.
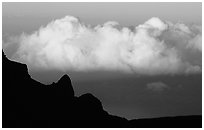
[[2,54],[2,127],[202,127],[202,116],[128,121],[103,110],[92,94],[74,96],[68,75],[43,85],[33,80],[24,64]]

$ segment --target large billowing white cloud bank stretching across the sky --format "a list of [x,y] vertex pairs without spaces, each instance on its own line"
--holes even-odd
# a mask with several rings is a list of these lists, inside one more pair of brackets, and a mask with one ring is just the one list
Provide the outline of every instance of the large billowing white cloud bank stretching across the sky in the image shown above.
[[11,59],[31,70],[185,74],[201,72],[201,36],[201,26],[157,17],[130,29],[114,21],[92,27],[66,16],[32,34],[10,37],[3,49],[15,47]]

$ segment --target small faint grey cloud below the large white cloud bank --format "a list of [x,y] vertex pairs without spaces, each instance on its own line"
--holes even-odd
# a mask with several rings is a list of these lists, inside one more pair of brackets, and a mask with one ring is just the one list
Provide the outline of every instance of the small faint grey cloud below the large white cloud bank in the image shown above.
[[152,82],[147,84],[147,89],[155,92],[162,92],[169,89],[169,86],[163,82]]

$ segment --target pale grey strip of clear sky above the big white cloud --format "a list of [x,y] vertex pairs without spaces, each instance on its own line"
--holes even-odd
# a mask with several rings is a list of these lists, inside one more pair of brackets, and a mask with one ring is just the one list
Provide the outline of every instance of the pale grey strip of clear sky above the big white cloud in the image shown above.
[[173,22],[202,21],[201,3],[3,3],[2,8],[3,30],[19,33],[66,15],[92,25],[114,20],[123,26],[135,26],[154,16]]

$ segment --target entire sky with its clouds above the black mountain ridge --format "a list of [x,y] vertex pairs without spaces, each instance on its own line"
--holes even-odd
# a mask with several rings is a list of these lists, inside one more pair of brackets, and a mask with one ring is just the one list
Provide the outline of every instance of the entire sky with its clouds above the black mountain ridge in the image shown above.
[[201,3],[3,3],[6,55],[49,84],[68,74],[127,119],[202,114]]

